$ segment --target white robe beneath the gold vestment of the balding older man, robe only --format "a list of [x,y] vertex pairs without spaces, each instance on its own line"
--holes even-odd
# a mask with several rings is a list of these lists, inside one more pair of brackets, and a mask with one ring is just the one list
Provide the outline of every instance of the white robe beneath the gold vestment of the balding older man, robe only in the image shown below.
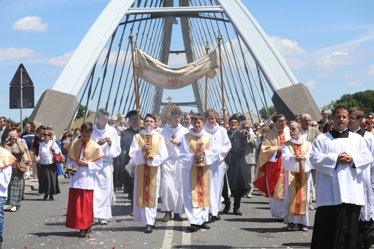
[[[300,137],[298,141],[291,138],[290,142],[294,144],[304,144],[306,142],[304,137]],[[294,223],[294,224],[303,224],[304,226],[309,226],[309,198],[310,198],[310,187],[312,186],[312,175],[310,170],[312,168],[310,161],[309,161],[309,151],[304,156],[304,159],[301,161],[303,170],[305,173],[308,174],[308,190],[307,190],[307,198],[306,202],[303,203],[306,206],[306,214],[303,215],[295,215],[290,216],[288,215],[289,205],[290,205],[290,192],[288,186],[288,171],[297,172],[299,173],[299,162],[295,161],[296,156],[291,153],[287,146],[283,144],[282,146],[282,165],[283,168],[286,170],[286,185],[285,185],[285,192],[284,192],[284,209],[286,214],[286,219],[284,220],[284,224]]]

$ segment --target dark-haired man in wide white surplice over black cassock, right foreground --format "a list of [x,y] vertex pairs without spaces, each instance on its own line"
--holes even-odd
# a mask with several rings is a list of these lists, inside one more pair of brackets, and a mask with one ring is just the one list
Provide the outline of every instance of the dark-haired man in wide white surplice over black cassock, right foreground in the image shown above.
[[348,111],[337,106],[334,128],[319,135],[309,159],[316,169],[316,204],[312,249],[356,248],[361,206],[365,205],[362,172],[372,153],[359,134],[347,130]]

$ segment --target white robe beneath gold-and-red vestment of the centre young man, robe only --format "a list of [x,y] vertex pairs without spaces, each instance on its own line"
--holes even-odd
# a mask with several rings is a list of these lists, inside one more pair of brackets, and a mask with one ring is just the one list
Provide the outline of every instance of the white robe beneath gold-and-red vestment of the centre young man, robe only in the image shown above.
[[[195,137],[201,137],[207,134],[204,129],[200,134],[196,134],[193,129],[189,129],[189,133]],[[183,184],[183,203],[185,205],[185,211],[189,224],[202,225],[208,220],[209,208],[194,208],[192,206],[192,190],[191,190],[191,168],[193,162],[196,160],[193,158],[194,154],[191,154],[189,144],[186,136],[182,139],[182,145],[180,149],[180,155],[178,160],[182,162],[182,184]],[[211,165],[216,161],[217,147],[214,137],[210,139],[209,147],[205,150],[204,161],[209,166],[209,173]]]

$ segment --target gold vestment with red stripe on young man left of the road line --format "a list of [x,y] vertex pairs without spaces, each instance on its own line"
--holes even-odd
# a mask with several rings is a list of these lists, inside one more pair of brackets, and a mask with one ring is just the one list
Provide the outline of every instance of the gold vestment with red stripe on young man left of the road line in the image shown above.
[[[159,153],[159,145],[163,136],[156,134],[151,137],[151,155]],[[142,134],[136,134],[139,148],[142,148],[147,140]],[[138,165],[137,178],[137,207],[154,208],[156,207],[156,188],[157,188],[157,167],[149,166],[147,163]]]

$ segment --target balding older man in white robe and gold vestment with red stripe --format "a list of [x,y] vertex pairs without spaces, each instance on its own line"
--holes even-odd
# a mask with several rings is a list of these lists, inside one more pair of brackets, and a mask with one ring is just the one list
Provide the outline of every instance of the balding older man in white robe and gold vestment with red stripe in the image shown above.
[[309,226],[309,195],[312,185],[312,168],[309,161],[309,149],[312,144],[301,136],[301,125],[290,123],[291,139],[282,146],[282,165],[286,170],[284,207],[287,230],[293,230],[295,224],[299,230],[307,232]]

